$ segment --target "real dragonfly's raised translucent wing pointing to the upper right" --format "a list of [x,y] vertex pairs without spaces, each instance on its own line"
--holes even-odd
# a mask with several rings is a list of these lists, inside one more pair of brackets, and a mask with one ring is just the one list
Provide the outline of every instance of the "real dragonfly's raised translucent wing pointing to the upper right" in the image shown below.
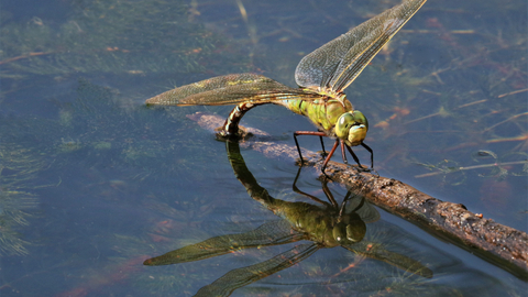
[[297,85],[343,91],[427,0],[405,0],[305,56]]

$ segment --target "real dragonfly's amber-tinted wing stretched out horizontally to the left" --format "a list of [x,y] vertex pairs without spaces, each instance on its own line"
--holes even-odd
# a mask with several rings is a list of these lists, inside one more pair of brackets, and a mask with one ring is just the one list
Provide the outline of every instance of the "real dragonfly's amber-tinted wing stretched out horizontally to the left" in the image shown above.
[[266,102],[296,98],[310,99],[315,94],[290,88],[255,74],[232,74],[172,89],[145,101],[161,106],[226,106],[240,102]]

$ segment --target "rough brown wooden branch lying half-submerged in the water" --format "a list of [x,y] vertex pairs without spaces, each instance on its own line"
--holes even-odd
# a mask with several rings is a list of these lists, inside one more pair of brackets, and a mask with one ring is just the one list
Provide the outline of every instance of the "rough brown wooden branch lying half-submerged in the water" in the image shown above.
[[[222,125],[224,121],[218,116],[206,113],[195,113],[188,118],[211,131]],[[244,145],[262,152],[266,157],[298,158],[295,146],[277,144],[271,141],[267,133],[257,129],[244,128],[244,131],[254,136]],[[302,156],[305,166],[314,166],[320,170],[323,161],[320,155],[304,150]],[[350,165],[329,162],[326,173],[332,180],[363,195],[372,204],[388,212],[501,266],[520,279],[528,280],[526,232],[477,216],[463,205],[433,198],[394,178],[370,173],[358,174]]]

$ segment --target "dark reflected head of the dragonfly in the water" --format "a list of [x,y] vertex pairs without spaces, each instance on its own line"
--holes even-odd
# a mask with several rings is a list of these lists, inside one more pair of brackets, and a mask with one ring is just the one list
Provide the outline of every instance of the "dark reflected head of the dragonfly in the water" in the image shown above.
[[345,216],[342,221],[333,226],[333,239],[340,244],[350,244],[363,240],[366,224],[358,213]]

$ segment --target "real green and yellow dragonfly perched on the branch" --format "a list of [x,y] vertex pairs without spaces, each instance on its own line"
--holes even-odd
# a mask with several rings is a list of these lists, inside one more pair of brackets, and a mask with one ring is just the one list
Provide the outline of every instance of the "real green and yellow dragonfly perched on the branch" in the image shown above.
[[346,99],[344,89],[354,81],[382,47],[407,23],[427,0],[405,0],[402,4],[353,28],[345,34],[328,42],[305,56],[295,70],[299,88],[292,88],[257,74],[231,74],[182,86],[146,100],[146,105],[161,106],[224,106],[237,105],[226,123],[219,129],[221,138],[240,138],[239,123],[250,109],[274,103],[286,107],[295,113],[306,116],[317,131],[296,131],[294,140],[302,164],[298,135],[316,135],[336,139],[327,154],[324,169],[337,147],[341,146],[344,164],[348,164],[345,148],[363,166],[352,151],[361,145],[371,154],[374,168],[374,153],[364,143],[369,121]]

